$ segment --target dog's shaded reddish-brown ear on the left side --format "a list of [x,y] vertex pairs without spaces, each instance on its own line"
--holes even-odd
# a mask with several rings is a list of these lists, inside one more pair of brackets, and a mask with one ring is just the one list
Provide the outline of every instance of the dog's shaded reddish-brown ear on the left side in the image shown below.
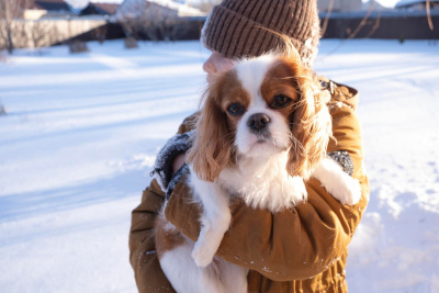
[[213,182],[230,160],[233,137],[227,116],[219,108],[221,87],[213,82],[206,91],[204,106],[196,123],[195,138],[187,160],[198,177]]

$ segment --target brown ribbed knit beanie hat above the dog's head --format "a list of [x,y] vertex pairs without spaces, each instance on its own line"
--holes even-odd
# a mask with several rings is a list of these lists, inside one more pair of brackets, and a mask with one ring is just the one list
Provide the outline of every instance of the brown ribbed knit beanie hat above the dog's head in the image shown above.
[[224,0],[204,23],[201,42],[228,58],[256,57],[291,38],[312,67],[320,34],[316,0]]

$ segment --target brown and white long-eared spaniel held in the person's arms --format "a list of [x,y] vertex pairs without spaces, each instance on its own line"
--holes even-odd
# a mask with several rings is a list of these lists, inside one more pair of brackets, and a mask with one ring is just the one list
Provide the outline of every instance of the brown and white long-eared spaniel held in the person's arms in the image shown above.
[[330,95],[297,53],[241,59],[210,83],[187,161],[202,206],[196,243],[156,224],[160,266],[177,292],[247,292],[246,268],[215,257],[229,228],[230,195],[272,213],[307,198],[314,177],[341,203],[361,198],[357,180],[326,157]]

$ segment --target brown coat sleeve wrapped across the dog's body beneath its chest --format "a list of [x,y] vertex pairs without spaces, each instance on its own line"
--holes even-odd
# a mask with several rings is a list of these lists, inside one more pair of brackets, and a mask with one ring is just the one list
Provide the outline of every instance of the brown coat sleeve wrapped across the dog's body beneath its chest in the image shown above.
[[[238,201],[232,205],[233,222],[217,256],[273,281],[290,281],[322,273],[346,252],[369,201],[369,181],[363,172],[360,125],[353,108],[335,102],[331,116],[337,142],[330,142],[328,151],[349,153],[352,176],[361,184],[360,202],[342,205],[315,179],[306,183],[306,202],[275,214]],[[181,180],[168,202],[166,217],[196,240],[200,207],[188,201],[190,192]]]

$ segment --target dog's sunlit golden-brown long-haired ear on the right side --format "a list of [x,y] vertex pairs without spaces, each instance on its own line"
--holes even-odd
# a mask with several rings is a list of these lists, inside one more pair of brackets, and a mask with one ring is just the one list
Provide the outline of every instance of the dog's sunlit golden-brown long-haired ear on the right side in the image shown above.
[[291,65],[295,67],[294,86],[300,100],[290,117],[292,147],[286,170],[291,176],[306,180],[326,156],[331,135],[331,117],[327,106],[330,95],[320,90],[317,78],[300,60]]

